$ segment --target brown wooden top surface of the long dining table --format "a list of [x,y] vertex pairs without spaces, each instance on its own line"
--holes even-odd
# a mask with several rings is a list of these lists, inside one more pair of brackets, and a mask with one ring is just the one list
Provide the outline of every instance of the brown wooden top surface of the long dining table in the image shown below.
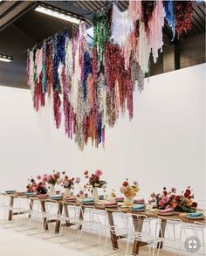
[[[62,199],[58,199],[58,200],[54,200],[54,199],[50,199],[50,198],[46,198],[46,199],[39,199],[38,197],[25,197],[25,196],[17,196],[16,194],[6,194],[6,193],[0,193],[0,195],[4,195],[4,196],[9,196],[9,197],[18,197],[18,198],[30,198],[33,200],[40,200],[40,201],[49,201],[49,202],[55,202],[58,204],[63,204],[66,202]],[[161,216],[158,214],[159,210],[156,209],[150,209],[151,205],[150,204],[146,204],[146,210],[145,211],[131,211],[130,208],[131,206],[127,206],[124,203],[118,203],[118,206],[116,208],[106,208],[105,204],[108,203],[108,201],[106,200],[100,200],[98,203],[92,204],[93,207],[97,210],[106,210],[109,209],[109,211],[122,211],[124,213],[132,213],[132,214],[143,214],[146,215],[148,218],[159,218],[159,217],[164,217],[164,218],[179,218],[182,220],[182,222],[185,223],[194,223],[195,221],[201,222],[201,223],[206,223],[205,218],[204,219],[189,219],[187,218],[187,213],[185,212],[175,212],[174,215],[169,215],[169,216]],[[68,203],[69,204],[69,203]],[[76,205],[82,205],[79,201],[77,203],[75,203]],[[86,205],[85,205],[86,206]],[[199,211],[203,211],[203,210],[199,210]],[[205,210],[204,210],[205,212]]]

